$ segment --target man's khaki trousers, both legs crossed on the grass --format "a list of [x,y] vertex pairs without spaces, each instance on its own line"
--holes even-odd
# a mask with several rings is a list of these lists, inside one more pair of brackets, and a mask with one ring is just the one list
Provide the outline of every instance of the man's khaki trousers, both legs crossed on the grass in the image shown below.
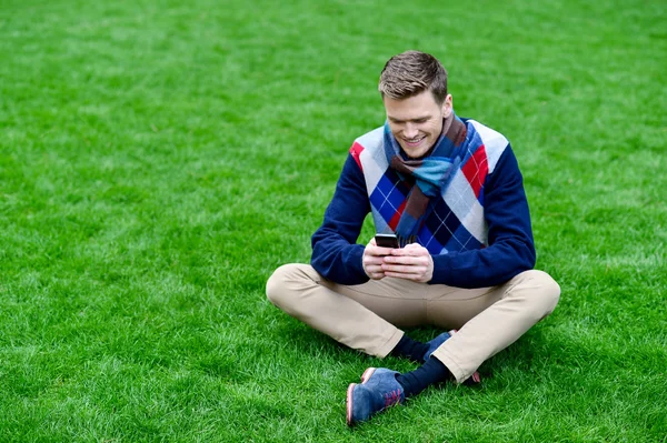
[[342,285],[308,264],[286,264],[267,282],[276,306],[349,348],[386,356],[399,328],[434,325],[459,332],[434,352],[457,382],[547,316],[560,288],[542,271],[526,271],[492,288],[461,289],[402,279]]

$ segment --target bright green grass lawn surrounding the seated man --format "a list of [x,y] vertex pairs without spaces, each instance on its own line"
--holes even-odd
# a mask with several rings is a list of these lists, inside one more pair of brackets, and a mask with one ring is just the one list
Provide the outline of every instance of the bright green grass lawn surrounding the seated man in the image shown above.
[[[667,442],[667,3],[437,3],[0,1],[0,441]],[[415,366],[265,282],[407,49],[510,139],[563,295],[481,389],[348,430],[348,383]]]

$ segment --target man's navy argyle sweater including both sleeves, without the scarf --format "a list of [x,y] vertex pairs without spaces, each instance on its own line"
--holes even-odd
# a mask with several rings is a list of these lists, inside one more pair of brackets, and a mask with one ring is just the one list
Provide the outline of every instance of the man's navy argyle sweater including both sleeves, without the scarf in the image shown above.
[[[485,288],[531,269],[535,248],[511,147],[481,123],[462,121],[469,149],[440,198],[429,203],[417,241],[434,259],[429,283]],[[411,187],[388,168],[382,133],[378,128],[355,141],[322,225],[312,235],[312,266],[337,283],[368,281],[361,258],[369,239],[356,244],[364,219],[370,212],[378,232],[392,232]]]

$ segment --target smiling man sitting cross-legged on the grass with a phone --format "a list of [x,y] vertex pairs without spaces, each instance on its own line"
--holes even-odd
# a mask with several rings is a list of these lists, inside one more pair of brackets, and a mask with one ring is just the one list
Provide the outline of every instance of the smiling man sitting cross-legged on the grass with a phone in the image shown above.
[[[311,265],[287,264],[267,283],[288,314],[370,355],[421,363],[399,374],[369,368],[347,391],[347,423],[467,379],[556,306],[560,288],[532,270],[521,173],[500,133],[454,112],[432,56],[392,57],[380,75],[387,121],[355,141]],[[356,244],[364,219],[400,246]],[[421,343],[399,328],[446,330]],[[457,332],[454,334],[454,332]]]

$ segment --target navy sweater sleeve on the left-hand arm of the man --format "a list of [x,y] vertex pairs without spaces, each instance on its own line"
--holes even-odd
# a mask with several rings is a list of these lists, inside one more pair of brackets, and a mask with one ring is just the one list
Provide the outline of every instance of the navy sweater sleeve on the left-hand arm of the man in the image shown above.
[[340,284],[361,284],[369,280],[361,261],[366,245],[356,244],[368,212],[370,203],[364,172],[352,155],[348,155],[325,220],[311,239],[310,264],[323,278]]

